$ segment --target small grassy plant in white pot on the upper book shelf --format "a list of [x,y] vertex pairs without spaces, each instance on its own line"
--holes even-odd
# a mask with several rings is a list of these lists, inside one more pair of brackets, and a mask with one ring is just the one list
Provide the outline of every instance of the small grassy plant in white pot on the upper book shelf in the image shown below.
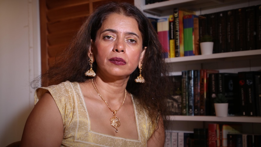
[[213,38],[210,35],[203,35],[200,38],[201,55],[208,55],[213,53]]

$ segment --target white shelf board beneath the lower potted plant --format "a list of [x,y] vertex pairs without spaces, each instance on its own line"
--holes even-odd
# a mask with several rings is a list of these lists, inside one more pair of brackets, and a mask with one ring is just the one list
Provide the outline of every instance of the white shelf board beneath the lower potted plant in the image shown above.
[[182,116],[182,115],[170,115],[170,121],[205,121],[205,122],[253,122],[261,123],[261,117],[250,116]]

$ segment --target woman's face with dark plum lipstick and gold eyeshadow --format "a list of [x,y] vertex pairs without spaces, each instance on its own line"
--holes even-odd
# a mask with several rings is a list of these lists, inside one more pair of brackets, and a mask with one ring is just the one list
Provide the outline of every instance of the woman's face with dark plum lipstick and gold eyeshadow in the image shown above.
[[92,41],[91,52],[98,75],[129,77],[144,55],[137,21],[122,14],[109,15]]

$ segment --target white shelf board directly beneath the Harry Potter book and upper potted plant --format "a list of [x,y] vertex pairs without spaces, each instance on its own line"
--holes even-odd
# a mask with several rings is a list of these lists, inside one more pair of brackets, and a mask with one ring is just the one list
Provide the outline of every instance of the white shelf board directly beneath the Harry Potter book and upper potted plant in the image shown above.
[[206,63],[206,62],[217,62],[225,60],[239,60],[239,59],[254,59],[261,58],[261,49],[249,50],[249,51],[239,51],[239,52],[225,52],[216,53],[210,55],[195,55],[195,56],[185,56],[185,57],[175,57],[166,58],[167,63]]

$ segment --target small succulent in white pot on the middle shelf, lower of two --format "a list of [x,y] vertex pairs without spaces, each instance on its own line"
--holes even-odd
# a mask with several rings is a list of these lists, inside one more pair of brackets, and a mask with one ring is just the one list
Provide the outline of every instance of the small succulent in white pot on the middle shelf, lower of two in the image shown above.
[[228,103],[227,98],[223,94],[218,94],[216,99],[214,99],[214,106],[216,116],[226,117],[228,113]]

